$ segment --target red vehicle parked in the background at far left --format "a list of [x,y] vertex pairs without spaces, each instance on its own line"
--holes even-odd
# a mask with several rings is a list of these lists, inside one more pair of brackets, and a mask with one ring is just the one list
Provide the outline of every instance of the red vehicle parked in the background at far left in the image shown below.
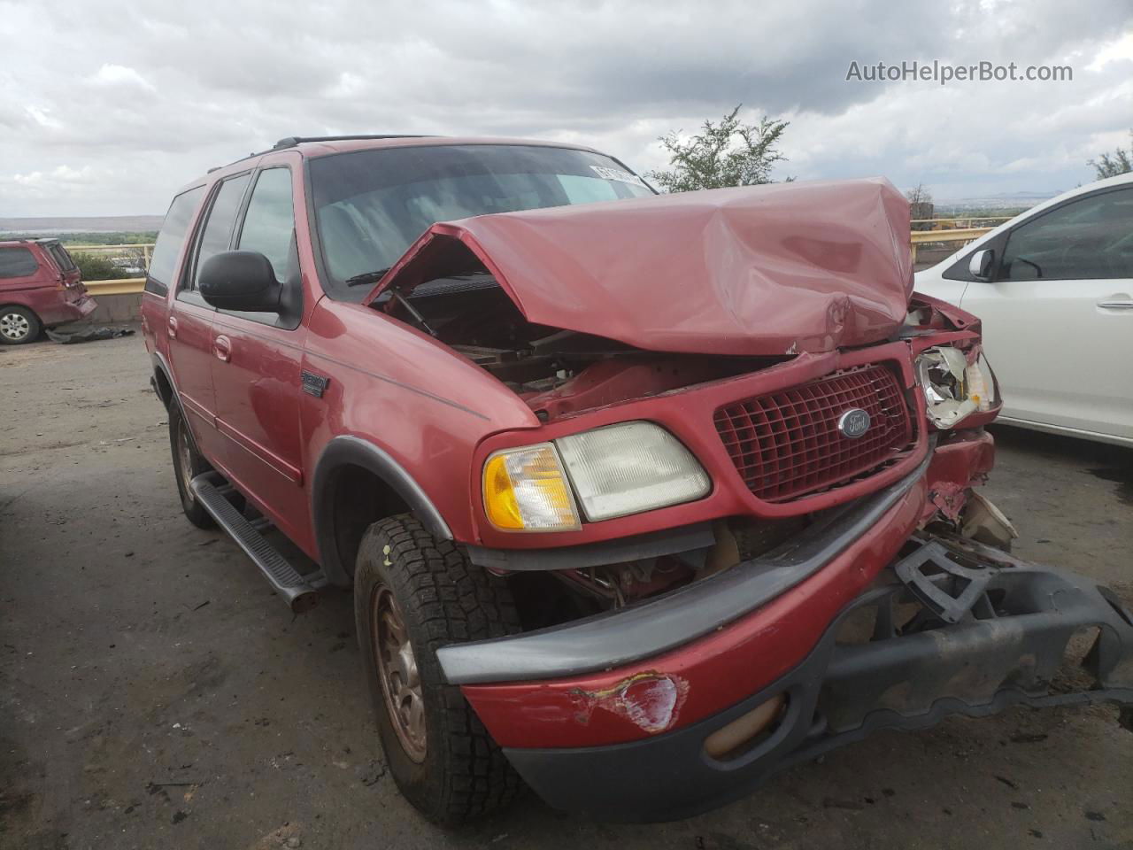
[[31,342],[42,329],[85,318],[97,306],[58,240],[0,241],[0,343]]

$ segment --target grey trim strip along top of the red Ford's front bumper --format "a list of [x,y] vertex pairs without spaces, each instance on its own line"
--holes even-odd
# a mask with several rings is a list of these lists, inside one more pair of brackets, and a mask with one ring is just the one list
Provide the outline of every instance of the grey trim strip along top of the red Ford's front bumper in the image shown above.
[[453,644],[437,658],[452,685],[555,679],[658,655],[743,617],[853,544],[920,481],[932,457],[896,484],[830,511],[794,541],[653,602],[516,637]]

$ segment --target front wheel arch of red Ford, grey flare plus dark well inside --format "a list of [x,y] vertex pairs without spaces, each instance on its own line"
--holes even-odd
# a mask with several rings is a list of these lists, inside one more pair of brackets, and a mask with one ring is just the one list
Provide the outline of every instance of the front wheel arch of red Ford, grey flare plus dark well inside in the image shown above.
[[416,479],[361,437],[341,435],[326,444],[312,476],[310,502],[323,571],[340,587],[351,585],[361,537],[380,519],[412,512],[434,537],[452,539],[449,524]]

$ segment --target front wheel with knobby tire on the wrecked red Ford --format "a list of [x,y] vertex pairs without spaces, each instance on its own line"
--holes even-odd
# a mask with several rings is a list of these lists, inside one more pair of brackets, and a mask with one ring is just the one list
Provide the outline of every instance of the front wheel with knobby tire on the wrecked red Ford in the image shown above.
[[503,579],[409,513],[380,520],[355,567],[355,621],[390,773],[429,821],[455,825],[514,798],[518,774],[441,673],[446,644],[519,631]]

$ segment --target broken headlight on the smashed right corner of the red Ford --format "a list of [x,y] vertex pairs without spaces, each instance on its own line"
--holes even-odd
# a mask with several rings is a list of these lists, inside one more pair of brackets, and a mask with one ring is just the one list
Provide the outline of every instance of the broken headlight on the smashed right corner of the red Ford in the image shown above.
[[917,358],[917,381],[925,391],[928,418],[938,428],[951,428],[998,401],[995,375],[982,354],[969,363],[959,348],[927,348]]

